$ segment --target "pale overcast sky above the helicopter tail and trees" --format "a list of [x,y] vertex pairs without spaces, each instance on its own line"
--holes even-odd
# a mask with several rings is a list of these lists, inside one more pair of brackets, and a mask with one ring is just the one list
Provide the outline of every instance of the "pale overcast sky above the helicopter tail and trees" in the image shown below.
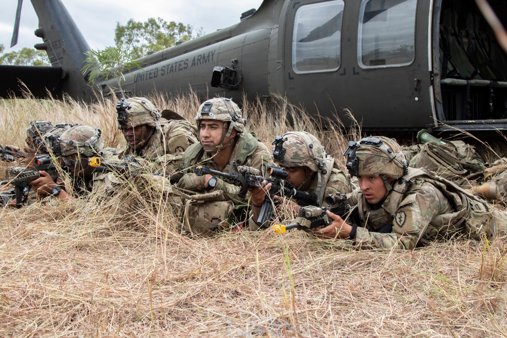
[[[11,46],[17,0],[0,0],[0,44],[5,53],[33,48],[42,39],[33,31],[39,27],[39,19],[30,0],[23,1],[18,44]],[[124,25],[129,19],[144,22],[148,18],[161,17],[165,21],[183,22],[205,33],[229,27],[239,22],[241,13],[258,9],[263,0],[64,0],[67,11],[83,33],[92,49],[114,45],[116,23]]]

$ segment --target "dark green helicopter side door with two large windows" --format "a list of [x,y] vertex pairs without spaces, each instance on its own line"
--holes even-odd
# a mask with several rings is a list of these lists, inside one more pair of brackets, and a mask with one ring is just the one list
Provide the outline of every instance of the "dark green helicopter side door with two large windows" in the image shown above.
[[314,101],[322,116],[338,113],[343,122],[348,107],[376,130],[434,123],[429,17],[423,0],[291,3],[283,27],[287,97]]

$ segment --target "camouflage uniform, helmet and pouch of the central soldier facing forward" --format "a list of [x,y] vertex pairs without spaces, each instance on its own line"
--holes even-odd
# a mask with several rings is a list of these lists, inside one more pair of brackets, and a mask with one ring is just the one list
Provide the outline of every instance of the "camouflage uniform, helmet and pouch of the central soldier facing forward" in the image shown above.
[[[206,107],[209,110],[206,111]],[[262,175],[266,167],[272,164],[268,147],[257,139],[254,133],[245,133],[245,120],[241,117],[239,107],[229,99],[214,98],[201,104],[196,116],[197,127],[201,120],[216,120],[224,122],[222,142],[216,150],[208,149],[201,143],[191,145],[184,154],[184,176],[177,186],[180,189],[190,190],[196,194],[189,196],[186,203],[186,218],[184,229],[204,236],[210,236],[216,231],[227,228],[227,218],[234,207],[248,204],[248,195],[245,198],[238,196],[240,187],[225,182],[220,177],[212,191],[204,190],[203,176],[196,176],[194,168],[206,165],[213,170],[228,172],[230,162],[237,165],[249,166],[258,169]],[[228,128],[228,129],[226,129]],[[213,161],[209,151],[220,151],[224,147],[224,137],[229,137],[232,130],[236,130],[235,144],[231,154],[231,161],[219,168]],[[213,153],[213,154],[214,154]]]

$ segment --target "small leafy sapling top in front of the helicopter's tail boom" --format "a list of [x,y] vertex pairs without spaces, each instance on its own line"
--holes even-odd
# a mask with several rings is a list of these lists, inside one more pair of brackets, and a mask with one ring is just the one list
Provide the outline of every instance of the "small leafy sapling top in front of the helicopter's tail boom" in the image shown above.
[[88,81],[93,85],[97,78],[102,77],[108,81],[114,78],[121,88],[122,80],[125,80],[123,72],[132,68],[141,68],[140,62],[133,60],[134,52],[122,46],[106,47],[104,50],[89,50],[86,52],[83,74],[90,72]]

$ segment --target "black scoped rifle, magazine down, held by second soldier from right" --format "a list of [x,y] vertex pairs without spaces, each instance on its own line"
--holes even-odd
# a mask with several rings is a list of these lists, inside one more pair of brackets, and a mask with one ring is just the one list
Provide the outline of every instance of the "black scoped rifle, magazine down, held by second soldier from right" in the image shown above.
[[269,227],[269,221],[273,214],[272,201],[275,195],[293,198],[302,206],[317,203],[316,194],[297,190],[291,182],[284,180],[284,178],[288,177],[288,173],[284,168],[268,166],[268,173],[271,178],[267,178],[266,180],[268,183],[271,183],[271,189],[269,190],[269,194],[264,198],[261,212],[257,218],[257,223],[261,224],[261,228],[266,229]]

